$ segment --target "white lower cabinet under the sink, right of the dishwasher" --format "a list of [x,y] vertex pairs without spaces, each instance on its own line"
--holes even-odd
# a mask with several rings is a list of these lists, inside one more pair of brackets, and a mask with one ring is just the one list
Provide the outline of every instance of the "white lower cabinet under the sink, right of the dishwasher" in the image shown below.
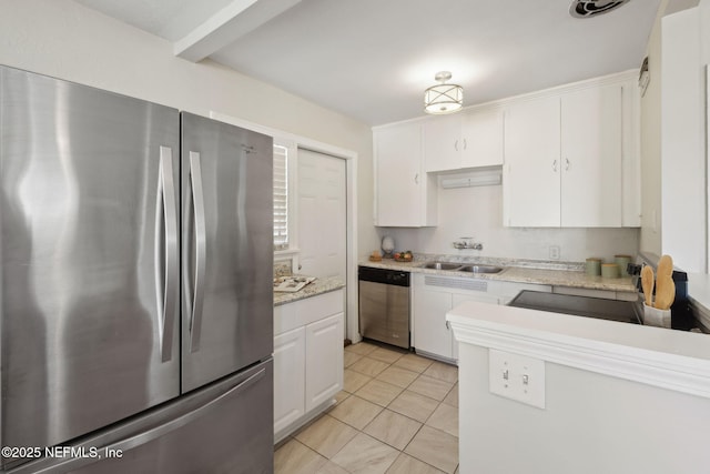
[[484,279],[413,274],[412,340],[417,353],[458,361],[458,343],[446,313],[465,301],[507,304],[523,290],[550,292],[549,285]]

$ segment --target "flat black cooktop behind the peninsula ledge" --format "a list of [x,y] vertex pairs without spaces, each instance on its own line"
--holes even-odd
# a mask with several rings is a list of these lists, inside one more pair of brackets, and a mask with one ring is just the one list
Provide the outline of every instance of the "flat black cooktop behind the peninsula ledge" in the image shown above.
[[509,306],[598,320],[641,324],[635,303],[631,301],[605,300],[601,297],[575,296],[569,294],[544,293],[524,290],[508,303]]

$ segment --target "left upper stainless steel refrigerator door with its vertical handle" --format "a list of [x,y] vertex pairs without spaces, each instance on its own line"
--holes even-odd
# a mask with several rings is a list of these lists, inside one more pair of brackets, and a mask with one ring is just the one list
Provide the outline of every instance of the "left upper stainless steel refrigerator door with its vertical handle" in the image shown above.
[[55,445],[179,394],[179,113],[2,67],[0,123],[0,445]]

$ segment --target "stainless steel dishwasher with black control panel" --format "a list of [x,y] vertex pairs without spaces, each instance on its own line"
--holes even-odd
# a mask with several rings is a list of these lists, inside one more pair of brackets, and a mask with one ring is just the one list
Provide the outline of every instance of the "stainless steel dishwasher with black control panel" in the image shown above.
[[358,268],[359,333],[409,349],[409,272]]

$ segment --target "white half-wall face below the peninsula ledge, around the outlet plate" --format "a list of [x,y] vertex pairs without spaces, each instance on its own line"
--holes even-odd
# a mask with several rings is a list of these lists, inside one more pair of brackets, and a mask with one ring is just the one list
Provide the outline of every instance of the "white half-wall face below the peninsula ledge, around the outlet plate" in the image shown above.
[[[545,410],[488,390],[488,349],[459,344],[462,468],[487,474],[708,471],[707,399],[545,363]],[[464,472],[462,470],[462,472]]]

